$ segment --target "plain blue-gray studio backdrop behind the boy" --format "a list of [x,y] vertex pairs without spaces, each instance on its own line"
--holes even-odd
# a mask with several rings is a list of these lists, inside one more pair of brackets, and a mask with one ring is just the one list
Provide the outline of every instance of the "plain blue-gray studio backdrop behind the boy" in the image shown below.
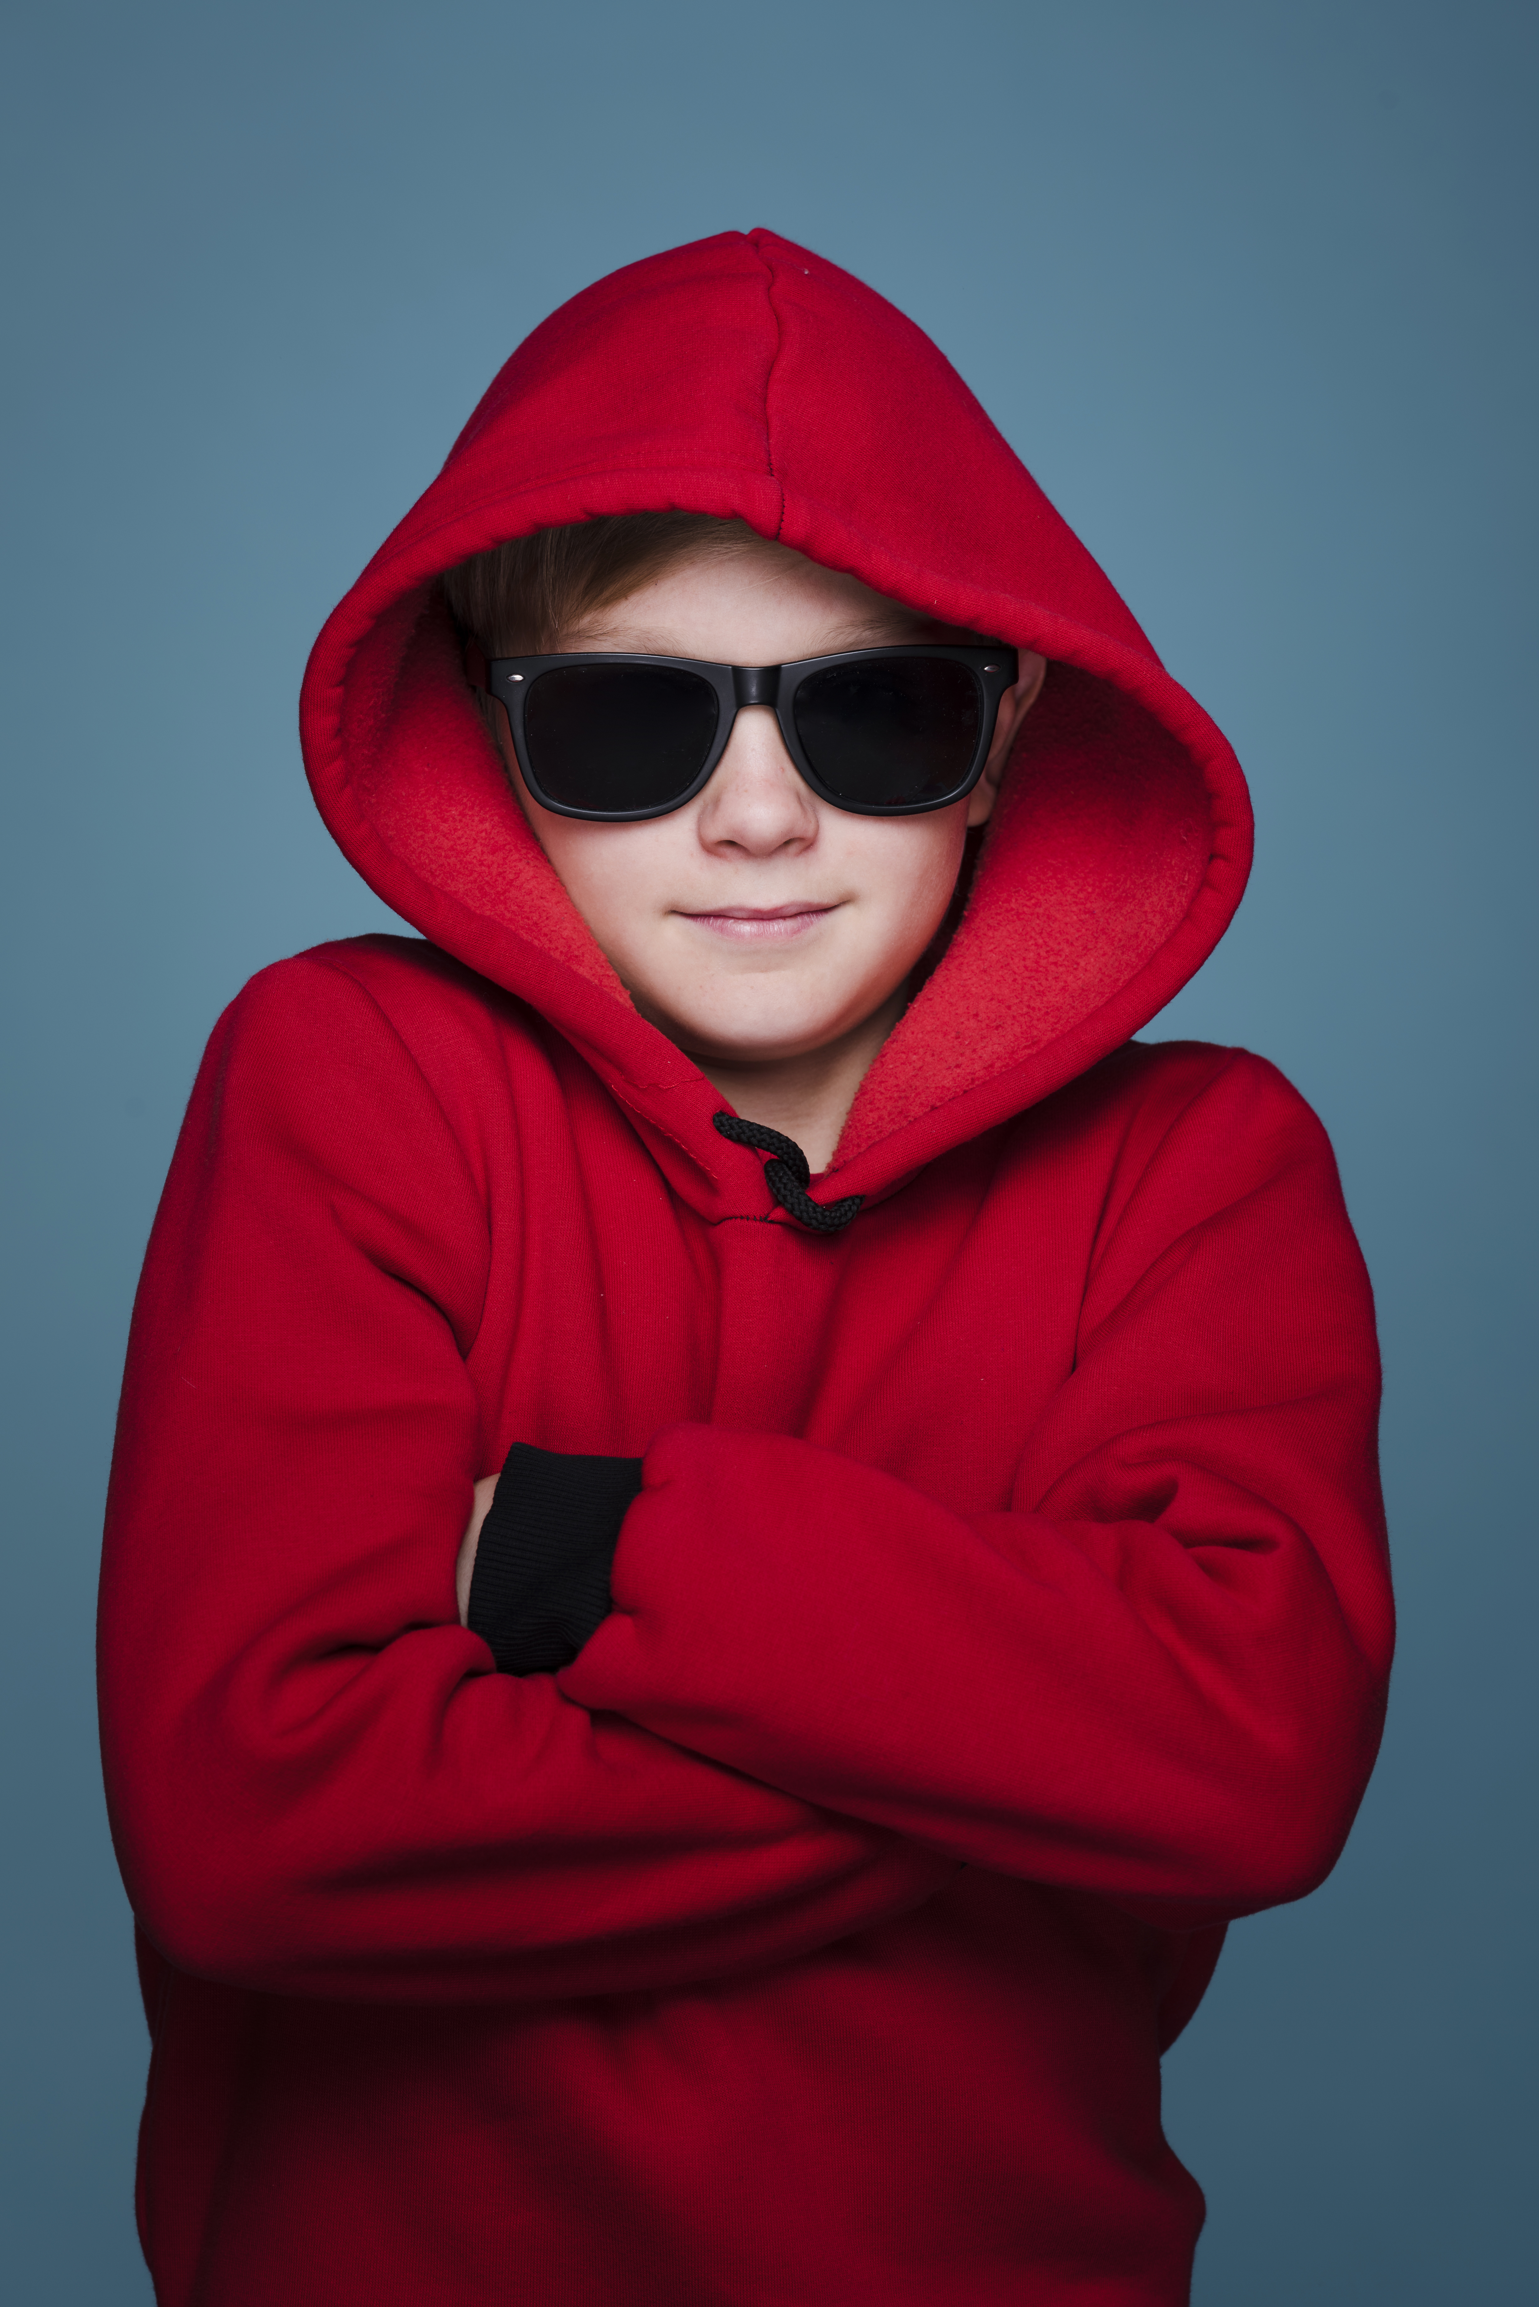
[[[1373,1267],[1403,1650],[1334,1880],[1168,2065],[1202,2307],[1527,2295],[1534,28],[1488,0],[198,0],[5,39],[9,2298],[148,2298],[92,1585],[201,1043],[388,916],[293,706],[512,344],[773,224],[946,348],[1258,801],[1170,1027],[1278,1059]],[[923,454],[923,443],[916,443]]]

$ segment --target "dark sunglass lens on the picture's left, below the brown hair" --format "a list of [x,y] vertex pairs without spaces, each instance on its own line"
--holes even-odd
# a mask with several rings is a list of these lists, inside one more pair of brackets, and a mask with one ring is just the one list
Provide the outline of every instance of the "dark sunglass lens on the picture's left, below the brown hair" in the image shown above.
[[667,664],[563,664],[524,706],[535,784],[558,807],[641,817],[699,777],[720,704],[699,674]]

